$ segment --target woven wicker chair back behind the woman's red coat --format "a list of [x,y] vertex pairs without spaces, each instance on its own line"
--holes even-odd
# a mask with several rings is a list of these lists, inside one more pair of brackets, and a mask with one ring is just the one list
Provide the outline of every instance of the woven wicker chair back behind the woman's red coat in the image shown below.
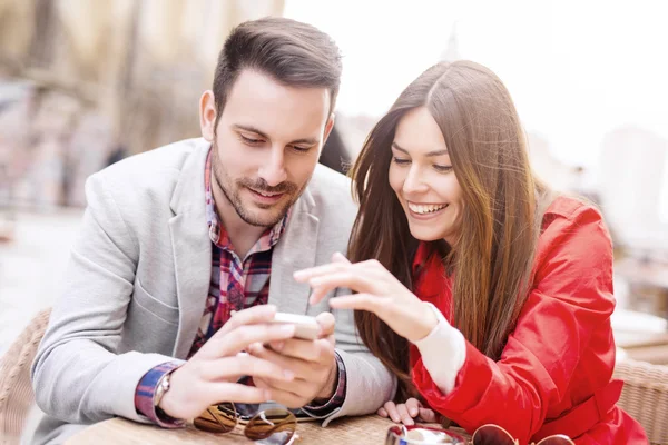
[[652,444],[668,444],[668,366],[626,359],[615,367],[625,382],[618,405],[640,422]]

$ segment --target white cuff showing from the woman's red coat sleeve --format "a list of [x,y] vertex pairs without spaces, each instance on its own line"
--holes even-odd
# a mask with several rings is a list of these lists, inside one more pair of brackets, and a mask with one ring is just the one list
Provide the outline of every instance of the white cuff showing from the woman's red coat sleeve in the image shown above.
[[434,305],[428,305],[436,315],[439,324],[426,337],[413,344],[418,346],[422,363],[432,380],[443,394],[449,394],[454,389],[456,375],[466,360],[466,340]]

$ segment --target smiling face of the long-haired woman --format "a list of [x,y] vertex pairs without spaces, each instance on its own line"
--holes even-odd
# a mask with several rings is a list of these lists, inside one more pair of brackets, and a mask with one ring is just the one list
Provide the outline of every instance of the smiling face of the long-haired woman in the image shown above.
[[464,208],[462,188],[441,129],[425,107],[399,121],[389,176],[411,234],[423,241],[445,239],[452,246]]

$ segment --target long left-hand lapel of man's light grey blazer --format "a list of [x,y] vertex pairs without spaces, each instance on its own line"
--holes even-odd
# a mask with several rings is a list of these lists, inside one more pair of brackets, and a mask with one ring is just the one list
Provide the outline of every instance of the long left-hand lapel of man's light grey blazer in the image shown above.
[[186,358],[202,322],[212,269],[212,241],[206,221],[204,168],[208,142],[199,139],[184,166],[171,198],[169,220],[179,307],[173,355]]

